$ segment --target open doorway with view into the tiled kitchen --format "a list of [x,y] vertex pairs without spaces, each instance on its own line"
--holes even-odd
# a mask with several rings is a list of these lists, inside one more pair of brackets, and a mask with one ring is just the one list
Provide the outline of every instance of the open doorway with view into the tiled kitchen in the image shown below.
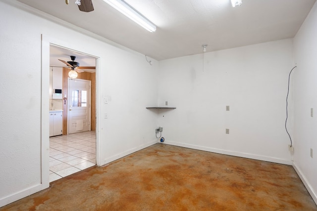
[[[69,78],[71,68],[60,61],[69,61],[70,56],[84,67],[76,79]],[[50,44],[50,71],[52,182],[96,165],[96,58]],[[52,125],[57,133],[51,134]]]

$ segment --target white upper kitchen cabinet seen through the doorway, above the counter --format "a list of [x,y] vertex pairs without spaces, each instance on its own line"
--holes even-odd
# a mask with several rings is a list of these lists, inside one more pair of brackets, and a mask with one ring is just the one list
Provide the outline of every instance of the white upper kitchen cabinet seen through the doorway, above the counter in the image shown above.
[[51,67],[50,73],[50,99],[63,99],[63,69]]

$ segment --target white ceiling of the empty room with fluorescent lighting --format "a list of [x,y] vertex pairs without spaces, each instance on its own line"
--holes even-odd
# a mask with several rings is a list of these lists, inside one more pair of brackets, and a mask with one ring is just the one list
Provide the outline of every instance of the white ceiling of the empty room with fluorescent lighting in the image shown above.
[[[316,0],[125,0],[157,26],[150,33],[103,0],[18,0],[157,60],[293,38]],[[82,65],[82,64],[81,64]]]

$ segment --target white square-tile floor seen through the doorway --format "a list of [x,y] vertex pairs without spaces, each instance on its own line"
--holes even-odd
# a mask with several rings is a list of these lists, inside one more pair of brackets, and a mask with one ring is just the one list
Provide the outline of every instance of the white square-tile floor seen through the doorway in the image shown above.
[[95,131],[50,137],[50,182],[95,165]]

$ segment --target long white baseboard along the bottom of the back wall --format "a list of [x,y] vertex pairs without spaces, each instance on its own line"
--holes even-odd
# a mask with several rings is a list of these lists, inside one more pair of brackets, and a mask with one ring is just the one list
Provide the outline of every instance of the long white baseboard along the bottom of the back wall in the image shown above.
[[284,160],[284,159],[274,158],[274,157],[266,157],[266,156],[261,156],[261,155],[235,152],[235,151],[229,151],[229,150],[222,150],[222,149],[198,146],[198,145],[193,145],[193,144],[184,144],[184,143],[178,143],[178,142],[166,141],[166,140],[164,141],[164,144],[186,147],[186,148],[191,148],[191,149],[198,149],[198,150],[203,150],[203,151],[207,151],[207,152],[214,152],[214,153],[219,153],[219,154],[224,154],[224,155],[232,155],[232,156],[237,156],[237,157],[242,157],[242,158],[250,158],[250,159],[254,159],[254,160],[267,161],[267,162],[278,163],[278,164],[293,165],[293,162],[291,160]]

